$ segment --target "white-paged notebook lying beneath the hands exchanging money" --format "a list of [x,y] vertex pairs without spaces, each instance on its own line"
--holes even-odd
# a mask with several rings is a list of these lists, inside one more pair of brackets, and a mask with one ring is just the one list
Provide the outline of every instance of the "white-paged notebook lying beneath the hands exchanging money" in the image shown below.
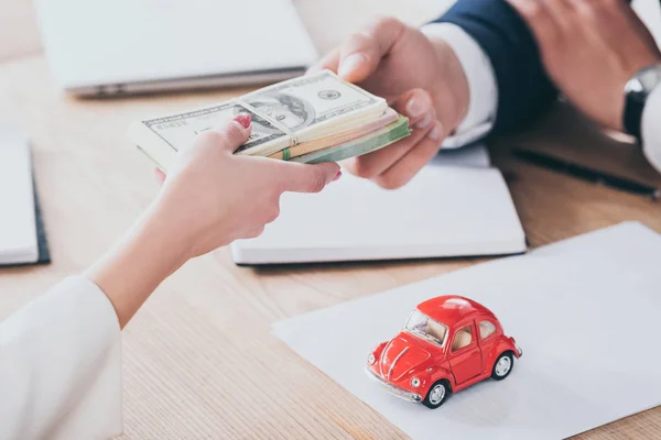
[[237,264],[513,254],[525,235],[484,146],[441,155],[409,185],[379,188],[345,173],[321,194],[285,194],[264,233],[231,246]]

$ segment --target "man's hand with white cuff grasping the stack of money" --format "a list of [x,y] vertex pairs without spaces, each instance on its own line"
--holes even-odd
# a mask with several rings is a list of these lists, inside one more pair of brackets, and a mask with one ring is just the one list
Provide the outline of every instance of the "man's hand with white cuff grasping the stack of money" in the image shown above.
[[321,68],[386,98],[410,119],[409,138],[346,163],[349,172],[384,188],[407,184],[468,109],[468,84],[452,48],[395,19],[380,19],[351,35],[313,69]]

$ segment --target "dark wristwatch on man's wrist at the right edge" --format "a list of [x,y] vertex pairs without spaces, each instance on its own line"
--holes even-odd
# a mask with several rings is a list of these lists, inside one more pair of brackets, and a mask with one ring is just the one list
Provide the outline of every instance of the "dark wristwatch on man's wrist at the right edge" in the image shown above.
[[627,133],[641,143],[642,111],[648,97],[661,84],[661,64],[644,67],[636,73],[625,86],[624,127]]

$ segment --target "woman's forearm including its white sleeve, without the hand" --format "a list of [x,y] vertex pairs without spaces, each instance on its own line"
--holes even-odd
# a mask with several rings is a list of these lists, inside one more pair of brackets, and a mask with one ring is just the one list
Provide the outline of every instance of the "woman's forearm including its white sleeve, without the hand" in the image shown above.
[[159,209],[86,277],[67,278],[0,322],[0,438],[121,433],[119,330],[188,255],[185,234]]

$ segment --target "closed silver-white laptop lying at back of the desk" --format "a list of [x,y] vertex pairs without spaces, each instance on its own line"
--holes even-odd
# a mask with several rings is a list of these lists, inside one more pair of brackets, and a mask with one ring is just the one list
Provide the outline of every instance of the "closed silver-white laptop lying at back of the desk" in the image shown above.
[[80,96],[243,86],[317,53],[290,0],[35,0],[56,80]]

